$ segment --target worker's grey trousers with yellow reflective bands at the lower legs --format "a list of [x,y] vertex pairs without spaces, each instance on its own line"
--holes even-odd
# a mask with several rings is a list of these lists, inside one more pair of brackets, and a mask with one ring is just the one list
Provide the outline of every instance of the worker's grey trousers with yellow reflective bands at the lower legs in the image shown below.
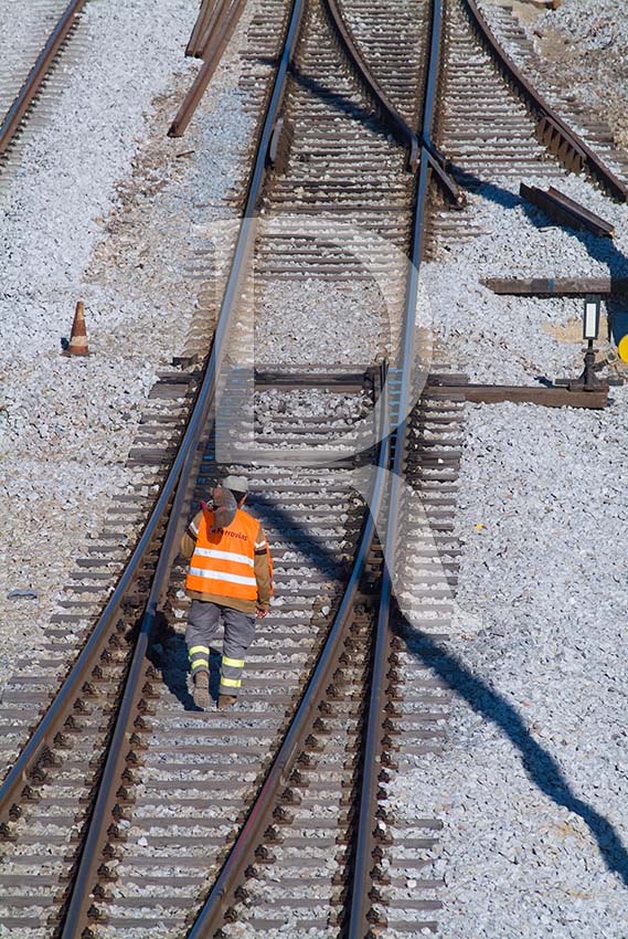
[[215,637],[221,616],[224,643],[221,661],[221,695],[237,695],[242,685],[244,656],[255,635],[255,613],[241,613],[231,606],[192,600],[185,643],[192,675],[210,671],[210,643]]

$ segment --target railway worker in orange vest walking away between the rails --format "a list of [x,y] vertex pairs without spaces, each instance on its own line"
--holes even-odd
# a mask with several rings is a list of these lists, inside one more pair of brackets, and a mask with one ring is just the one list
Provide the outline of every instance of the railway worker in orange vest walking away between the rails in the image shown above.
[[273,561],[260,524],[242,508],[248,494],[246,478],[227,476],[221,486],[235,499],[235,517],[228,525],[216,527],[214,510],[203,505],[181,539],[181,553],[191,559],[185,578],[185,591],[192,598],[185,642],[194,704],[202,708],[210,706],[210,643],[222,619],[224,644],[219,690],[222,710],[237,700],[255,621],[268,613]]

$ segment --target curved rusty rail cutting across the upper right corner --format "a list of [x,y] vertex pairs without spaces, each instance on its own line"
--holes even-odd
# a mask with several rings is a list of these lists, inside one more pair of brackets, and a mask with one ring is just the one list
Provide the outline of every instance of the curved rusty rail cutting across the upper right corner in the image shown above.
[[[555,150],[556,156],[565,163],[567,169],[574,169],[578,167],[578,163],[585,165],[592,176],[602,182],[614,198],[622,202],[628,201],[628,186],[599,159],[582,137],[556,114],[545,98],[530,84],[521,70],[500,45],[476,0],[462,0],[462,3],[499,68],[517,87],[528,106],[540,115],[542,122],[541,138],[543,143],[552,149],[552,143],[560,141],[561,145],[554,146],[553,151]],[[543,127],[543,122],[545,122],[545,127]],[[561,152],[562,150],[563,152]],[[572,154],[571,160],[567,159],[570,152]]]

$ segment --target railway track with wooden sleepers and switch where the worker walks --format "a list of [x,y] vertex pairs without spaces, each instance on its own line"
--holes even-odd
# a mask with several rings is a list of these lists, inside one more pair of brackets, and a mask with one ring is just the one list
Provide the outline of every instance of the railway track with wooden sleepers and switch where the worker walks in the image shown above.
[[[466,149],[479,105],[465,103],[476,50],[465,8],[445,11],[444,23],[427,0],[418,15],[409,3],[285,10],[194,410],[129,565],[0,791],[9,935],[436,931],[439,882],[424,874],[440,822],[404,817],[387,783],[443,746],[449,701],[424,648],[447,641],[453,613],[464,416],[464,395],[422,393],[418,368],[417,271],[426,219],[435,232],[444,213],[430,180],[457,194],[436,147],[467,176],[490,165],[473,165],[477,143]],[[508,175],[523,151],[536,168],[544,151],[520,129],[523,106],[507,119],[511,98],[496,104],[494,71],[472,57],[487,127],[499,122],[493,169]],[[320,365],[301,350],[254,369],[256,330],[312,282],[350,288],[387,365]],[[252,481],[278,595],[238,708],[201,713],[177,546],[226,471]]]

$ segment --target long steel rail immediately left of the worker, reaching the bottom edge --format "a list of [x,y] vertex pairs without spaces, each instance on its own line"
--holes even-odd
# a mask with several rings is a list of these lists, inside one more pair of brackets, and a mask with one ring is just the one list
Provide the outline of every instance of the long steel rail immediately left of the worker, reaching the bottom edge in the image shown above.
[[294,49],[296,48],[304,8],[305,0],[294,1],[284,51],[277,67],[273,94],[266,110],[257,156],[249,180],[244,217],[238,231],[228,281],[219,314],[212,351],[199,391],[194,412],[177,456],[177,474],[174,475],[173,467],[162,493],[162,498],[166,495],[168,495],[168,498],[173,497],[172,510],[170,511],[146,612],[130,664],[127,687],[111,734],[107,759],[98,788],[98,795],[93,808],[81,861],[66,908],[61,939],[76,939],[77,936],[83,935],[83,929],[86,927],[88,908],[92,903],[89,893],[96,880],[96,871],[100,863],[102,848],[108,837],[107,827],[111,822],[111,809],[117,799],[116,781],[120,779],[120,770],[125,763],[125,745],[128,745],[128,738],[132,731],[130,718],[142,694],[140,687],[141,677],[148,665],[146,653],[155,626],[158,606],[163,598],[164,585],[168,582],[173,560],[178,555],[178,536],[180,535],[181,523],[183,521],[184,524],[182,516],[183,505],[188,497],[189,487],[194,484],[194,479],[192,478],[194,462],[202,455],[198,452],[199,443],[210,412],[216,403],[220,368],[226,355],[227,340],[233,320],[235,319],[242,281],[255,239],[255,217],[266,176],[266,156],[273,127],[283,104],[288,68]]

